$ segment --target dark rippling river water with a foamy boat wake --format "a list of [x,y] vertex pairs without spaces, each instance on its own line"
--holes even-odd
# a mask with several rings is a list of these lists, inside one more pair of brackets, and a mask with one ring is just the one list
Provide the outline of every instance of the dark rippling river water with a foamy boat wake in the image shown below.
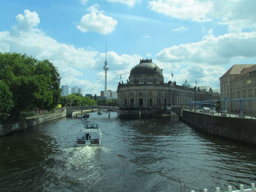
[[91,115],[101,147],[75,147],[80,116],[1,137],[0,191],[227,191],[256,181],[253,145],[167,117]]

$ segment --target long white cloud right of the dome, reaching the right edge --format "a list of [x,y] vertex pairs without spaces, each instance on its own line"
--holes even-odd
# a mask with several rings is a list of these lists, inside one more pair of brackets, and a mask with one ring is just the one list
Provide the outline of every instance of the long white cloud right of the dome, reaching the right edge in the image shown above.
[[196,43],[180,44],[164,48],[156,55],[163,62],[205,63],[207,65],[230,64],[239,57],[256,57],[256,32],[223,36],[204,36]]

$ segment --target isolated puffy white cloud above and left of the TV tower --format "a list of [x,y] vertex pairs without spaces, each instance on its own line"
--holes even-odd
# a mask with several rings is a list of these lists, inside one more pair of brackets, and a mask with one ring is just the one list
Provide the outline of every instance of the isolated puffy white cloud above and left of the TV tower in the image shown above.
[[82,17],[76,28],[84,33],[92,31],[106,35],[114,31],[116,25],[117,20],[114,20],[112,17],[108,17],[101,13],[97,15],[95,12],[91,12]]

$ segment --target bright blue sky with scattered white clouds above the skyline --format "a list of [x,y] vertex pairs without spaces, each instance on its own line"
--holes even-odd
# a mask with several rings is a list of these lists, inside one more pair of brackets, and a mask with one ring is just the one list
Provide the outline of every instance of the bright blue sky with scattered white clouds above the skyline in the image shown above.
[[142,58],[163,69],[165,83],[217,89],[234,64],[256,63],[255,7],[255,0],[1,0],[0,52],[48,59],[61,85],[83,95],[104,90],[106,52],[107,90],[125,83]]

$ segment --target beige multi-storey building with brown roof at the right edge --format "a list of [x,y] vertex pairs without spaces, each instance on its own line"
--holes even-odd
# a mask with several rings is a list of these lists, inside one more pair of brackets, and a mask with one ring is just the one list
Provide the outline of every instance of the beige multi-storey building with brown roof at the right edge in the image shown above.
[[[220,77],[220,98],[228,99],[225,108],[231,112],[241,112],[246,114],[256,114],[256,65],[237,64],[233,65],[224,75]],[[246,99],[246,100],[243,100]],[[252,99],[252,100],[250,100]],[[223,106],[223,102],[221,105]]]

